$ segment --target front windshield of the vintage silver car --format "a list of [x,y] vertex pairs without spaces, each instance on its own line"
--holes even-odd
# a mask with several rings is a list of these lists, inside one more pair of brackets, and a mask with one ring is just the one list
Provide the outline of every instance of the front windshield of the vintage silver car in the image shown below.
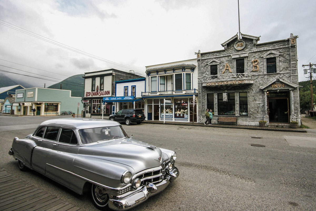
[[99,141],[122,138],[127,135],[120,126],[112,126],[80,129],[79,136],[82,144],[90,144]]

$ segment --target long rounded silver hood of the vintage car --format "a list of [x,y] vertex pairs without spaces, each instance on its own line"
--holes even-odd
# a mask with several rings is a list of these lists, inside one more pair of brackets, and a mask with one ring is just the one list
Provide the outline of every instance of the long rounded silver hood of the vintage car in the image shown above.
[[160,148],[130,138],[82,146],[79,154],[128,165],[135,173],[160,166],[167,157]]

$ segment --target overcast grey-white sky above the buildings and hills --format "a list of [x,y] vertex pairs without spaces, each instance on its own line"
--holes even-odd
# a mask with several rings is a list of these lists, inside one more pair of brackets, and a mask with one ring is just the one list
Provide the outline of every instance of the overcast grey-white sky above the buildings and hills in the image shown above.
[[[311,0],[240,0],[240,31],[261,36],[259,43],[298,35],[305,81],[301,66],[316,63],[315,8]],[[145,76],[145,66],[222,50],[238,33],[237,0],[1,0],[0,11],[0,70],[60,80],[110,68]],[[23,79],[38,87],[56,83]]]

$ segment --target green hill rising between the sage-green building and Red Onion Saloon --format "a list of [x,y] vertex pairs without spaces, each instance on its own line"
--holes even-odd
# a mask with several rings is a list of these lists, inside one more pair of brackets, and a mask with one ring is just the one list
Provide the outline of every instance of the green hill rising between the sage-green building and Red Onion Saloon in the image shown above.
[[53,84],[47,88],[51,89],[61,89],[63,90],[71,90],[71,96],[72,97],[83,97],[84,93],[84,78],[82,78],[84,74],[74,75],[70,76],[69,78],[66,78],[60,83]]

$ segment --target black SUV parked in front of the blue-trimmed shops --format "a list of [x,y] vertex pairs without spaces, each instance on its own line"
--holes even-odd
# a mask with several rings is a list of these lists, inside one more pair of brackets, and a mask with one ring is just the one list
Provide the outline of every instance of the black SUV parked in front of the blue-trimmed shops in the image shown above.
[[145,120],[145,115],[142,109],[123,109],[110,115],[109,120],[124,121],[126,125],[130,125],[132,122],[140,124]]

